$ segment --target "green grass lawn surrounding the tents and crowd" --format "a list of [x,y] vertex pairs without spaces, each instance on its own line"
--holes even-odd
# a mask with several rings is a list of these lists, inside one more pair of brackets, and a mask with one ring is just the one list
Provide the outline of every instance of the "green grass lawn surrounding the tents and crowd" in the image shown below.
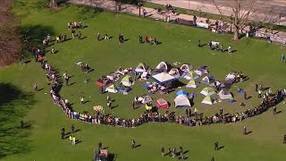
[[[203,97],[198,89],[187,89],[195,92],[195,106],[199,112],[206,115],[218,112],[223,107],[226,113],[235,113],[252,108],[260,103],[257,93],[254,92],[256,82],[262,80],[265,87],[273,91],[285,87],[285,64],[280,63],[282,49],[278,44],[268,44],[264,40],[242,38],[239,42],[231,42],[231,35],[217,35],[207,30],[189,28],[181,25],[167,24],[161,21],[139,19],[135,16],[94,10],[82,6],[63,5],[56,11],[45,8],[37,9],[39,3],[21,1],[13,6],[13,12],[20,17],[22,33],[27,32],[29,40],[41,44],[42,38],[49,33],[54,36],[66,33],[71,38],[71,31],[67,30],[67,21],[83,21],[87,28],[81,30],[81,40],[71,39],[55,45],[58,52],[55,55],[46,55],[45,59],[55,66],[58,71],[69,72],[73,75],[73,85],[61,90],[62,97],[67,97],[72,107],[77,111],[92,112],[92,106],[105,106],[106,96],[115,99],[113,115],[126,118],[139,116],[144,107],[131,110],[130,102],[135,96],[147,94],[147,90],[139,86],[137,81],[129,95],[99,94],[95,81],[102,75],[114,72],[119,66],[136,67],[144,62],[150,67],[156,67],[161,61],[170,64],[174,62],[189,63],[198,67],[208,65],[210,74],[216,80],[224,80],[225,75],[232,71],[241,71],[249,80],[232,86],[231,91],[237,100],[232,105],[227,103],[214,106],[204,106],[200,102]],[[31,9],[33,7],[33,9]],[[113,36],[110,40],[98,42],[97,32],[103,36],[105,31]],[[129,40],[118,44],[118,35],[124,34]],[[157,47],[139,44],[139,35],[158,38],[162,44]],[[210,40],[222,42],[224,47],[231,45],[237,52],[233,55],[217,53],[208,50],[208,47],[197,47],[198,38],[201,42]],[[190,41],[189,41],[190,40]],[[50,49],[50,48],[48,48]],[[91,80],[84,85],[85,74],[74,63],[83,61],[88,63],[94,72],[88,73]],[[273,115],[268,110],[255,118],[236,124],[217,124],[190,128],[172,123],[147,123],[135,129],[123,129],[105,125],[92,125],[69,120],[58,106],[54,106],[49,97],[49,86],[46,82],[46,73],[40,65],[31,60],[31,63],[22,66],[13,64],[0,69],[0,158],[4,160],[91,160],[93,149],[102,141],[110,148],[116,160],[174,160],[170,157],[161,157],[160,148],[183,146],[189,150],[188,160],[283,160],[285,146],[282,145],[282,136],[286,131],[284,125],[286,113],[285,105],[277,106],[281,114]],[[187,81],[181,80],[185,83]],[[32,91],[32,85],[38,82],[38,93]],[[245,101],[247,106],[239,106],[243,96],[237,94],[236,89],[242,88],[248,92],[251,99]],[[177,89],[178,90],[178,89]],[[176,91],[177,91],[176,90]],[[168,95],[152,95],[154,99],[164,97],[171,102],[175,92]],[[80,96],[88,101],[80,106]],[[108,110],[105,107],[105,112]],[[184,111],[171,111],[184,114]],[[20,130],[20,121],[23,119],[30,127]],[[69,140],[61,140],[60,130],[64,126],[70,130],[75,123],[76,138],[82,140],[80,144],[71,146]],[[246,125],[249,131],[247,136],[242,135],[242,127]],[[3,134],[2,134],[3,133]],[[130,141],[136,139],[141,146],[130,149]],[[223,149],[214,151],[214,142],[219,141]],[[176,158],[178,159],[178,158]]]

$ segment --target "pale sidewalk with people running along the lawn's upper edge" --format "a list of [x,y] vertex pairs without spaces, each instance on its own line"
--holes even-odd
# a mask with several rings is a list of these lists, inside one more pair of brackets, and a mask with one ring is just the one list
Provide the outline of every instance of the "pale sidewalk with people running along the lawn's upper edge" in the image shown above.
[[[91,2],[90,0],[70,0],[68,2],[71,4],[89,5],[89,6],[103,8],[103,9],[111,10],[111,11],[115,11],[115,8],[116,8],[115,2],[109,1],[109,0],[97,0],[97,1],[93,1],[93,2]],[[136,5],[122,4],[121,7],[122,7],[121,13],[131,13],[134,15],[139,15],[139,8]],[[155,20],[165,21],[166,17],[168,16],[170,21],[175,21],[176,19],[193,21],[192,15],[188,15],[188,14],[174,15],[172,13],[158,13],[153,8],[141,7],[141,9],[143,9],[143,8],[147,11],[147,17],[150,17],[150,18],[155,19]],[[142,11],[141,11],[141,14],[143,14]],[[209,20],[209,21],[211,21],[211,23],[214,24],[214,22],[216,20]],[[206,18],[197,17],[197,22],[205,23]],[[228,25],[228,28],[225,29],[225,31],[231,31],[230,25]],[[249,31],[249,27],[245,28],[245,31]],[[257,37],[261,37],[261,38],[271,37],[273,41],[286,43],[286,33],[285,32],[273,30],[273,34],[272,34],[270,32],[265,32],[265,31],[266,31],[265,29],[260,29],[257,32]]]

